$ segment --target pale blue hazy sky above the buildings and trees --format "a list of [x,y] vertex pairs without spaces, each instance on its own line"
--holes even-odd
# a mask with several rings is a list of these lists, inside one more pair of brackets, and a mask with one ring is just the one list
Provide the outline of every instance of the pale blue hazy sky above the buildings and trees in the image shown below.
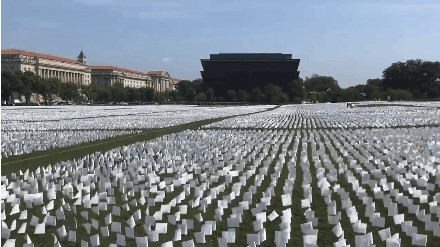
[[438,0],[2,0],[1,48],[200,78],[212,53],[299,58],[343,88],[393,62],[440,60]]

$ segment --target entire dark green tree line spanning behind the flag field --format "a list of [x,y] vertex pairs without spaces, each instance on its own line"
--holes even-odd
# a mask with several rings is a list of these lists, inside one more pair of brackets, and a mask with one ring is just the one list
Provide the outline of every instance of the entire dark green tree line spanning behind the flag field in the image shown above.
[[152,88],[124,87],[114,83],[105,88],[96,84],[62,83],[56,78],[40,78],[33,72],[2,71],[2,101],[12,102],[12,95],[30,102],[33,93],[45,103],[59,98],[73,102],[241,102],[285,104],[307,102],[350,102],[362,100],[434,100],[440,99],[440,62],[420,59],[396,62],[383,71],[382,78],[368,79],[365,84],[341,88],[331,76],[314,74],[298,78],[285,87],[269,83],[264,88],[228,90],[217,96],[202,79],[183,80],[176,90],[156,92]]

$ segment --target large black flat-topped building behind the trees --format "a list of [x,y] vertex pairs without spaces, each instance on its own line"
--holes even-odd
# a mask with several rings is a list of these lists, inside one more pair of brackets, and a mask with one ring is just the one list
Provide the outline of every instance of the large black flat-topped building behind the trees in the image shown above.
[[299,76],[299,59],[282,53],[220,53],[201,59],[203,82],[214,89],[216,96],[226,96],[233,89],[263,89],[273,83],[285,86]]

